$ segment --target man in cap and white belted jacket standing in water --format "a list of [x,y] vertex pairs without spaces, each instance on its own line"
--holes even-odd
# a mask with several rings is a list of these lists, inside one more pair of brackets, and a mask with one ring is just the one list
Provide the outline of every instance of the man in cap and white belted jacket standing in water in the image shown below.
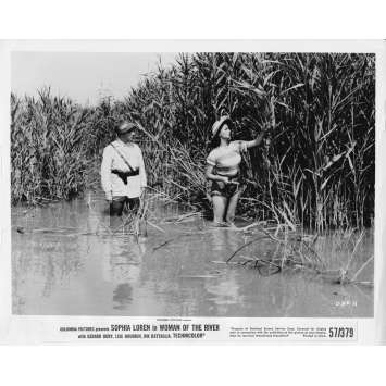
[[101,179],[111,216],[121,216],[125,207],[138,211],[147,185],[142,152],[133,141],[137,129],[134,123],[120,122],[117,139],[103,150]]

